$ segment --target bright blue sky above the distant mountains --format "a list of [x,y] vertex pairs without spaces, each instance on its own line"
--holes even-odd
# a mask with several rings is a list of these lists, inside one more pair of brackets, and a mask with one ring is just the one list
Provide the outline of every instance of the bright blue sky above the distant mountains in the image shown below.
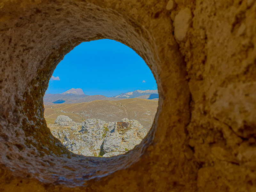
[[115,96],[137,89],[157,89],[144,60],[128,46],[103,39],[84,42],[65,55],[45,93],[81,88],[87,95]]

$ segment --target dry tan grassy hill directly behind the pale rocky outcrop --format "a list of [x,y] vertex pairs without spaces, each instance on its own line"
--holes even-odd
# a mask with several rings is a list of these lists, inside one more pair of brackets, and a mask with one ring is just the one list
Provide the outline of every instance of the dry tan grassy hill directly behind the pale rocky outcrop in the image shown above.
[[53,124],[59,115],[69,116],[75,122],[97,118],[106,122],[120,121],[123,118],[138,120],[147,131],[154,121],[158,101],[146,99],[124,99],[117,101],[96,100],[85,103],[58,104],[44,106],[47,124]]

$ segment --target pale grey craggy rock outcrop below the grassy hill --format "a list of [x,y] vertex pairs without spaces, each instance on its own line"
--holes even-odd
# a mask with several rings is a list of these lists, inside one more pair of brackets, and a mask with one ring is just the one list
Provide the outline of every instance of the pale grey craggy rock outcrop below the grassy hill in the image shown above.
[[127,153],[147,134],[147,130],[137,120],[123,118],[121,122],[128,126],[118,131],[117,122],[86,119],[77,123],[68,116],[60,115],[55,124],[48,124],[48,127],[53,136],[75,154],[111,157]]

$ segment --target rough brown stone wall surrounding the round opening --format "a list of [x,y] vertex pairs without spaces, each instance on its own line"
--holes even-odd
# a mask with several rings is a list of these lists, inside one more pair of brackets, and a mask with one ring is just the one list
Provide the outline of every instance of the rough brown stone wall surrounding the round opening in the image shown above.
[[[0,2],[1,191],[256,191],[256,3],[166,5]],[[184,9],[191,19],[176,41],[173,21]],[[66,53],[102,38],[145,60],[159,108],[148,135],[127,154],[84,157],[52,136],[43,96]]]

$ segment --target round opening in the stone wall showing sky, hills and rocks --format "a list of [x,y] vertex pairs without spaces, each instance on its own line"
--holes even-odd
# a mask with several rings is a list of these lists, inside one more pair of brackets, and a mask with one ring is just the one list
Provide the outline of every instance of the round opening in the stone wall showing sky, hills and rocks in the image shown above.
[[154,76],[128,46],[81,43],[58,64],[44,95],[44,118],[71,152],[111,157],[140,144],[158,107]]

